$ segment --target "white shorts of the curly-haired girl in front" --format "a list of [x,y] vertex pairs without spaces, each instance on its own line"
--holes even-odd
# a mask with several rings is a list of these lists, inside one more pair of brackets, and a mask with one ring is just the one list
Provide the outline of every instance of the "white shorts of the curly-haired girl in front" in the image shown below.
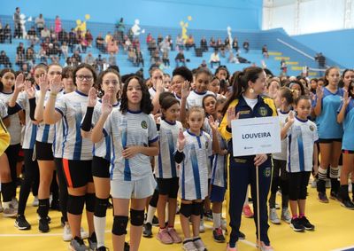
[[111,194],[115,199],[144,199],[151,196],[155,188],[152,174],[135,181],[111,180]]

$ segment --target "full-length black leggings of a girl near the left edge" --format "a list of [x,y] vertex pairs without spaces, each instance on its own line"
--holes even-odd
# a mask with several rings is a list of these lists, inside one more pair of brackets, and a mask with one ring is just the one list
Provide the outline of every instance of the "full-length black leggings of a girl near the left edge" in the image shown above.
[[25,161],[25,178],[22,181],[21,188],[19,190],[19,209],[18,215],[23,216],[25,214],[26,204],[28,200],[31,186],[34,195],[38,194],[39,184],[39,169],[37,161],[32,161],[33,149],[23,149],[24,161]]

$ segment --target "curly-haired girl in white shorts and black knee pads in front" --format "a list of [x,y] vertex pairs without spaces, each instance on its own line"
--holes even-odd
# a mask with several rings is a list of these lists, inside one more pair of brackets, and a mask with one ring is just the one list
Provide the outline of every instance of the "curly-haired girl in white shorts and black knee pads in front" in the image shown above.
[[122,91],[120,108],[112,110],[109,94],[104,95],[102,114],[92,130],[92,142],[103,137],[112,141],[111,191],[114,208],[112,239],[114,250],[123,250],[130,202],[130,250],[139,249],[144,207],[156,182],[150,156],[158,155],[158,133],[150,112],[149,90],[133,75]]

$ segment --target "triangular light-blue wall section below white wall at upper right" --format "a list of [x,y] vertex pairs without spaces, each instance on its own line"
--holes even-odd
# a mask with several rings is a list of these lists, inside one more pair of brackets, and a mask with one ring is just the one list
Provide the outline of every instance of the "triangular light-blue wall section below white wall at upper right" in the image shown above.
[[344,67],[354,68],[354,29],[294,35],[292,38]]

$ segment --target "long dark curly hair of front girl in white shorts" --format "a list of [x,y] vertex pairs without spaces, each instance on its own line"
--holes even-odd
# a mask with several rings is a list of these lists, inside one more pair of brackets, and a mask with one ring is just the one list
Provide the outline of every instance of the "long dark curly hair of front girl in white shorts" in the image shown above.
[[137,75],[129,77],[124,83],[122,96],[120,99],[120,112],[122,114],[127,114],[127,86],[132,79],[136,79],[139,82],[140,87],[142,88],[142,101],[140,101],[140,109],[142,110],[142,113],[150,114],[154,108],[151,103],[150,92],[146,84],[143,82],[142,78]]

